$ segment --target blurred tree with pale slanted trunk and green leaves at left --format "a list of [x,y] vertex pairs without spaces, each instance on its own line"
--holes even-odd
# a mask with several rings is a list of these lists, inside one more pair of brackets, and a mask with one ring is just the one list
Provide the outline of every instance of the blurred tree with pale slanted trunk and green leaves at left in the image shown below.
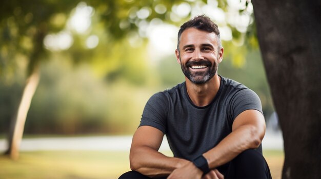
[[[87,1],[83,1],[87,2]],[[183,1],[162,1],[165,12],[173,4]],[[39,63],[46,60],[48,50],[44,40],[49,33],[65,28],[70,11],[79,1],[33,1],[13,0],[2,2],[0,6],[0,75],[8,75],[16,69],[19,61],[26,61],[26,83],[17,113],[12,120],[9,134],[9,148],[6,154],[18,158],[18,148],[22,139],[26,116],[32,96],[39,82]],[[137,30],[138,24],[153,18],[166,19],[165,13],[155,13],[151,7],[158,1],[88,1],[100,15],[110,44]],[[167,17],[168,19],[168,17]],[[109,45],[110,45],[109,44]],[[88,59],[83,47],[75,47],[71,53],[75,62]],[[22,60],[23,59],[23,60]],[[131,76],[128,74],[128,76]]]

